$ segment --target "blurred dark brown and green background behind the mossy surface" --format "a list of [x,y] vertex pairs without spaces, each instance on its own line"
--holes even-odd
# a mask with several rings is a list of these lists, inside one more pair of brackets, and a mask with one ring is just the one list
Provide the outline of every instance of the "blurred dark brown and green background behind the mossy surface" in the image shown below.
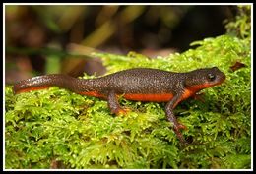
[[102,75],[92,51],[150,58],[183,52],[192,41],[224,34],[224,20],[236,13],[221,5],[5,5],[5,83]]

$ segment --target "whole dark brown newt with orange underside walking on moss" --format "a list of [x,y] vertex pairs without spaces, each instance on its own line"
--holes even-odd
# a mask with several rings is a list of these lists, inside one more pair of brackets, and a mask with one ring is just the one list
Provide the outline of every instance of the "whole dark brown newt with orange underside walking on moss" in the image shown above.
[[76,79],[53,74],[24,80],[13,87],[14,93],[42,89],[51,86],[64,87],[73,92],[107,100],[111,113],[125,113],[118,103],[120,96],[128,100],[167,102],[165,114],[173,123],[173,129],[181,142],[185,142],[173,114],[177,104],[207,87],[220,85],[225,75],[217,67],[197,69],[187,73],[174,73],[150,68],[135,68],[96,79]]

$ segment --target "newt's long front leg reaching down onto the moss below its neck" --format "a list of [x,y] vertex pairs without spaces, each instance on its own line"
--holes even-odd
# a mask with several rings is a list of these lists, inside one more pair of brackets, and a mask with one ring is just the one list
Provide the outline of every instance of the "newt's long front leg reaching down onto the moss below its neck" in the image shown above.
[[182,143],[186,143],[186,141],[184,140],[180,129],[186,129],[186,127],[180,123],[178,123],[174,113],[173,113],[173,109],[176,107],[176,105],[180,102],[180,98],[181,95],[180,94],[176,94],[165,106],[165,113],[167,116],[168,121],[173,123],[173,130],[176,133],[178,139],[182,142]]

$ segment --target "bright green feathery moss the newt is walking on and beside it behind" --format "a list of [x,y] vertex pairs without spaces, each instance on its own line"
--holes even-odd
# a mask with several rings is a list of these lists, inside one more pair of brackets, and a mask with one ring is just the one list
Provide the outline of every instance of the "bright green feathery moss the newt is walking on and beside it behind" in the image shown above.
[[[223,85],[205,89],[204,102],[188,99],[175,109],[190,145],[179,145],[162,103],[121,99],[131,111],[115,116],[106,101],[59,87],[18,95],[5,87],[5,167],[50,168],[59,161],[62,168],[77,169],[250,168],[250,42],[226,34],[192,45],[198,47],[157,59],[94,53],[108,74],[134,67],[219,67],[226,75]],[[233,72],[237,61],[246,67]]]

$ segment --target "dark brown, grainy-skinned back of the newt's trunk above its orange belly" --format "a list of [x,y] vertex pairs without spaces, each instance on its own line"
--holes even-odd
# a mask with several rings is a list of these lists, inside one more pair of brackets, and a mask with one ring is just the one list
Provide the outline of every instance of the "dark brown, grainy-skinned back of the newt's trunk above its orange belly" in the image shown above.
[[103,90],[114,90],[117,93],[162,93],[171,90],[179,81],[182,73],[172,73],[150,68],[136,68],[120,71],[102,78]]

